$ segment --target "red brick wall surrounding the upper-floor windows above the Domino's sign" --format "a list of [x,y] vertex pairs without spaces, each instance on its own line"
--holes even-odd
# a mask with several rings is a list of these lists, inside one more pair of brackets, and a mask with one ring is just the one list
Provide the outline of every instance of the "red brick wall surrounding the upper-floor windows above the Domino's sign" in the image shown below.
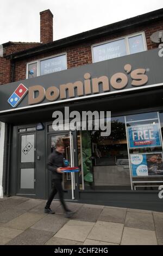
[[[147,26],[135,27],[133,29],[126,29],[125,31],[123,31],[121,33],[116,33],[116,34],[114,33],[112,35],[102,36],[101,38],[97,38],[96,40],[86,41],[85,43],[62,48],[61,50],[46,52],[43,54],[39,54],[37,56],[33,56],[33,57],[26,58],[23,60],[18,60],[15,63],[14,81],[26,79],[26,64],[28,62],[32,62],[33,60],[45,58],[45,57],[52,56],[54,54],[58,54],[58,53],[62,53],[62,52],[67,52],[67,68],[68,69],[73,68],[75,66],[90,64],[90,63],[92,63],[92,54],[91,54],[91,45],[92,44],[96,44],[98,42],[103,42],[106,40],[120,38],[121,36],[129,35],[132,33],[144,31],[145,35],[146,35],[147,48],[148,48],[148,50],[151,50],[153,48],[158,47],[158,44],[154,44],[151,41],[150,36],[155,31],[158,31],[160,29],[163,29],[163,21],[155,22],[155,23],[153,23],[153,25],[150,25],[150,26],[147,25]],[[1,68],[0,68],[0,70],[1,70]],[[9,72],[8,70],[5,72],[5,76],[7,76],[8,72]],[[4,80],[5,80],[5,78],[4,78]],[[5,83],[4,80],[2,81],[2,83]],[[6,80],[6,81],[8,81],[8,80]],[[1,80],[0,80],[0,82],[1,82]]]

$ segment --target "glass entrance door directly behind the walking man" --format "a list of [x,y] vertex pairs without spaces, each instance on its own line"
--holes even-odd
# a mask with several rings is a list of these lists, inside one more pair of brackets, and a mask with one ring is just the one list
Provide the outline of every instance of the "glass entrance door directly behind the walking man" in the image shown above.
[[[74,166],[73,157],[73,137],[71,132],[53,133],[48,135],[48,154],[53,153],[55,145],[62,141],[65,146],[64,159],[69,162],[71,167]],[[74,173],[63,173],[62,186],[64,188],[65,199],[74,199]],[[48,194],[52,189],[52,173],[48,171]],[[58,199],[58,194],[55,199]]]

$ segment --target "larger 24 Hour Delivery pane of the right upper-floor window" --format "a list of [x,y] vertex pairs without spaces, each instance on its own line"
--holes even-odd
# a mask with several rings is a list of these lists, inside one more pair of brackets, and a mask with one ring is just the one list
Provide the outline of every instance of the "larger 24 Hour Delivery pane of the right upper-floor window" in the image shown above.
[[124,39],[93,47],[93,62],[121,57],[127,54]]

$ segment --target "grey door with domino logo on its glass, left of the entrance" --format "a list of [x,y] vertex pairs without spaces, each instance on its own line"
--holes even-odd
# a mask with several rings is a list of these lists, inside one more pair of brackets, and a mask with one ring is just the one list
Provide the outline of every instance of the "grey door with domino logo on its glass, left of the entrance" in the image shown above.
[[35,133],[18,137],[17,194],[35,194]]

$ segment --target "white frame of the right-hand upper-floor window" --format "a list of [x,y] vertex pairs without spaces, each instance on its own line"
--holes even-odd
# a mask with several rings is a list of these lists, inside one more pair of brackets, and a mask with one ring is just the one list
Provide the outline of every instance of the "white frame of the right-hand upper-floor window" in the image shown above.
[[[126,36],[122,36],[120,38],[111,39],[111,40],[107,40],[107,41],[103,41],[103,42],[98,42],[97,44],[91,45],[92,63],[95,63],[94,62],[94,56],[93,56],[93,47],[96,47],[96,46],[99,46],[99,45],[105,45],[105,44],[108,44],[108,42],[114,42],[114,41],[118,41],[118,40],[124,39],[125,44],[126,44],[127,55],[131,54],[130,53],[129,40],[128,39],[132,38],[133,36],[136,36],[136,35],[142,35],[143,47],[145,48],[144,51],[147,51],[147,42],[146,42],[145,32],[144,31],[140,31],[140,32],[137,32],[137,33],[133,33],[133,34],[129,34],[129,35],[126,35]],[[134,54],[134,53],[132,53],[132,54]]]

